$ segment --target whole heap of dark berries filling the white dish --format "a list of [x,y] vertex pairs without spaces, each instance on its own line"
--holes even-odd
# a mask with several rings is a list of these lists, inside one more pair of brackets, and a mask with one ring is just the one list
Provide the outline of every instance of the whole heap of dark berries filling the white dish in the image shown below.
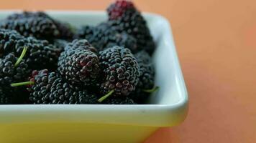
[[0,104],[144,104],[155,92],[147,22],[131,1],[73,28],[42,11],[0,21]]

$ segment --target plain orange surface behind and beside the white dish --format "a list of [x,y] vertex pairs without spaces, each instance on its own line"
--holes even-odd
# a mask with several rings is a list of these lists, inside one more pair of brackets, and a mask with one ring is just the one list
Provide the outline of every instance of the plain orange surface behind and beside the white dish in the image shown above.
[[[0,9],[104,10],[111,0],[0,2]],[[186,121],[146,143],[256,142],[256,1],[134,2],[172,24],[190,99]]]

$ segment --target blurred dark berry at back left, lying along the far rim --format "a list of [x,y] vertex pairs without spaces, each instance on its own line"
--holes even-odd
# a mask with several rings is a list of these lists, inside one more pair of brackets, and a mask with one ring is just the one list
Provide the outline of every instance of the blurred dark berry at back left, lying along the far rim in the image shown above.
[[55,38],[72,38],[73,33],[67,24],[52,19],[44,12],[23,12],[12,14],[0,22],[0,28],[13,29],[23,36],[52,41]]

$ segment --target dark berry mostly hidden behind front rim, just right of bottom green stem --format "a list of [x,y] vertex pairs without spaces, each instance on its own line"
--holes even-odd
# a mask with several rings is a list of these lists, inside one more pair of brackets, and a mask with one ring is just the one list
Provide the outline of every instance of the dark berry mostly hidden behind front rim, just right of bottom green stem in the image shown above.
[[125,98],[107,98],[102,104],[137,104],[129,97]]

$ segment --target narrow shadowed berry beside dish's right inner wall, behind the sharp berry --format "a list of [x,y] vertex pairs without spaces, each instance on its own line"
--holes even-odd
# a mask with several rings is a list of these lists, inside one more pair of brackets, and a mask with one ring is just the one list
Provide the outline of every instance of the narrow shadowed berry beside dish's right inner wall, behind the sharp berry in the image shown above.
[[151,57],[146,51],[140,51],[134,56],[140,66],[140,80],[131,97],[135,102],[143,103],[150,96],[150,93],[145,92],[145,90],[147,91],[154,87],[155,69]]

